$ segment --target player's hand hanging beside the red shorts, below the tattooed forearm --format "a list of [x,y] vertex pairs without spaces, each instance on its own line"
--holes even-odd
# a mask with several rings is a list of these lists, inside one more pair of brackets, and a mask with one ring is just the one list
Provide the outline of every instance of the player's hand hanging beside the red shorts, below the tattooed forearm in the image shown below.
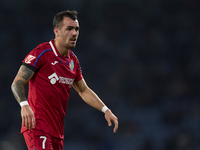
[[27,129],[35,128],[35,116],[29,105],[24,105],[21,108],[22,125]]

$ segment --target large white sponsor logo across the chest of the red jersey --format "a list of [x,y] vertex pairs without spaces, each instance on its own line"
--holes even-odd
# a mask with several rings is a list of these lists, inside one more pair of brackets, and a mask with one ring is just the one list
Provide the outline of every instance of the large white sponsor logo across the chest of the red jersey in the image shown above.
[[48,76],[48,78],[50,79],[51,84],[55,84],[57,81],[59,81],[59,83],[68,84],[71,86],[74,82],[74,79],[70,79],[66,77],[58,77],[58,75],[55,72],[51,74],[50,76]]

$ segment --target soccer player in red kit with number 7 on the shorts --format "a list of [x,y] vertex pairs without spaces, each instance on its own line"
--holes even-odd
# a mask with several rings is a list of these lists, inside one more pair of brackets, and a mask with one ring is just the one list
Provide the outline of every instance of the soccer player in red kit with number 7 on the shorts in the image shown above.
[[[12,83],[12,92],[21,106],[22,128],[29,150],[62,150],[64,118],[70,89],[78,92],[90,106],[105,113],[113,132],[118,119],[87,86],[74,48],[79,35],[77,11],[62,11],[54,16],[55,39],[34,48]],[[28,98],[24,86],[29,82]]]

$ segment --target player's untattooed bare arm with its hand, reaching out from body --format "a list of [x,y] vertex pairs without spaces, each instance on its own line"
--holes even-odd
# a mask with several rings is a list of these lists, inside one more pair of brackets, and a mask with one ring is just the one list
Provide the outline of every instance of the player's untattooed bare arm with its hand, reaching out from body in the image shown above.
[[[97,96],[95,92],[93,92],[86,84],[85,80],[82,79],[78,82],[73,83],[74,89],[78,92],[81,98],[90,106],[98,109],[99,111],[102,110],[102,107],[105,106],[103,101]],[[111,126],[114,122],[115,127],[113,132],[116,133],[118,129],[118,119],[117,117],[111,112],[110,109],[105,111],[105,119],[108,122],[108,125]]]

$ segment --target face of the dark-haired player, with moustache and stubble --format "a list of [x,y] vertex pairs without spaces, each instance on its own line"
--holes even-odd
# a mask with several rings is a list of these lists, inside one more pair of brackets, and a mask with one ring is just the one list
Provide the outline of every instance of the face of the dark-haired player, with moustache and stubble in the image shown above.
[[62,26],[54,29],[56,40],[66,49],[74,48],[79,35],[78,20],[64,17]]

